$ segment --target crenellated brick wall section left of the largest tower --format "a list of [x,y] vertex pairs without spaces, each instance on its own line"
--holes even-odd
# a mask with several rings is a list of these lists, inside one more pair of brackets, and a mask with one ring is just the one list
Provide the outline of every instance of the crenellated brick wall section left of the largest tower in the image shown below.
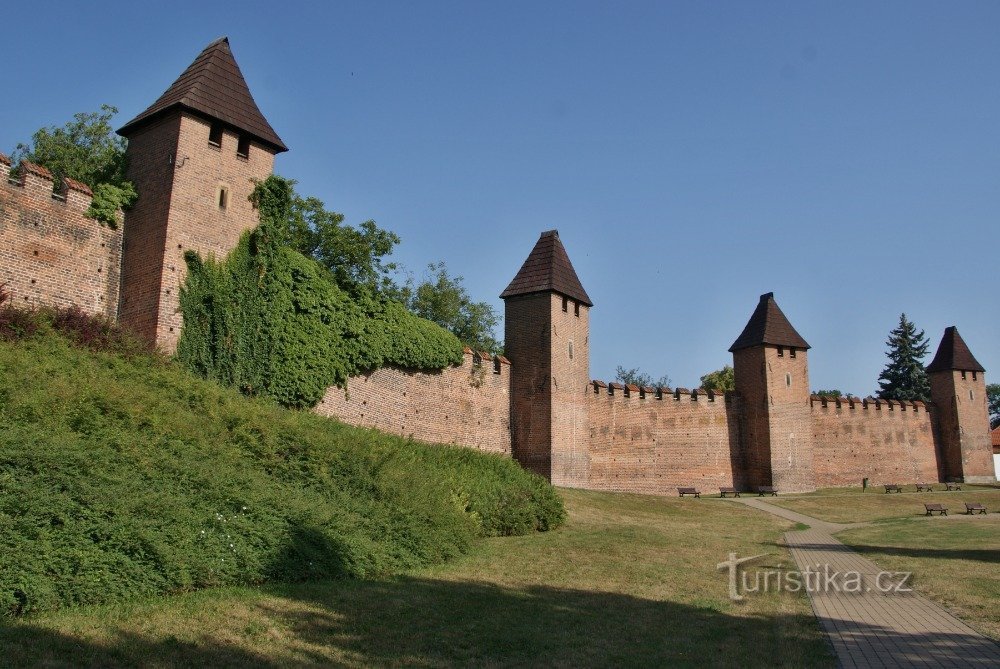
[[52,192],[52,175],[22,163],[11,181],[0,154],[0,283],[16,304],[75,305],[114,318],[118,310],[122,236],[83,214],[90,189],[66,180]]

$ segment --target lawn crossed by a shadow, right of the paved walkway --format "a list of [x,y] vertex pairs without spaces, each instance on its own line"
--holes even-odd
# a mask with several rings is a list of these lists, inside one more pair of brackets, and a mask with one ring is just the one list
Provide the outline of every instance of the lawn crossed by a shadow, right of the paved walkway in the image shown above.
[[916,591],[1000,641],[1000,514],[895,519],[837,538],[885,570],[912,572]]

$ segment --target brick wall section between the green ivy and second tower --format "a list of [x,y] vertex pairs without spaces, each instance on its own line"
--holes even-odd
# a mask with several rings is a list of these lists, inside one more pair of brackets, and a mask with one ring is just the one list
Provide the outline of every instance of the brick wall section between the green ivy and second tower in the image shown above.
[[[316,413],[419,441],[510,455],[510,364],[466,352],[440,372],[383,367],[328,388]],[[499,373],[497,373],[499,371]]]

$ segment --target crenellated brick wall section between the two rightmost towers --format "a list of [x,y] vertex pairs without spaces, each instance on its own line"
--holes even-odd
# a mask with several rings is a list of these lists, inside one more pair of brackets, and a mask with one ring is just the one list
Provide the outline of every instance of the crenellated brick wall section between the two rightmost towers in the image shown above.
[[813,465],[819,487],[941,480],[933,407],[893,400],[813,398]]

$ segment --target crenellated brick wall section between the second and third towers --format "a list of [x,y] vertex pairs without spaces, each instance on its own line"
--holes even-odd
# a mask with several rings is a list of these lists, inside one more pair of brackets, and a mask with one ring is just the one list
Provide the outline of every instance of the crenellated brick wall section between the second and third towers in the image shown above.
[[734,395],[596,382],[588,400],[587,487],[671,495],[678,487],[709,492],[745,485]]

